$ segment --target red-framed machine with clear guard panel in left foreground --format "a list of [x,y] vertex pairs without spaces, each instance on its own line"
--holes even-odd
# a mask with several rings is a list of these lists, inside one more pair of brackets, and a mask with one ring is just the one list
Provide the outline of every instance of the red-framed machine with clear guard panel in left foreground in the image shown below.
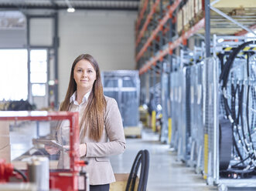
[[77,112],[0,112],[0,132],[0,189],[89,190]]

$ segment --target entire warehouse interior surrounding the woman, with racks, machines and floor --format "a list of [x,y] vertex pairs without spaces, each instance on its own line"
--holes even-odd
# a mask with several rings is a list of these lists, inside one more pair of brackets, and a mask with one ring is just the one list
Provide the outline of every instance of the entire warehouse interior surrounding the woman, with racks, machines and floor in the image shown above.
[[58,112],[83,53],[121,113],[111,191],[256,189],[255,0],[0,0],[0,190],[89,190]]

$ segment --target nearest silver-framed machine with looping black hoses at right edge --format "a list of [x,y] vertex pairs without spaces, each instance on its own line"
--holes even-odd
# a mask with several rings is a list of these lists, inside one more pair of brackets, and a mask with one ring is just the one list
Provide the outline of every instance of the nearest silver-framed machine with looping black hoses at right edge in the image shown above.
[[214,103],[218,108],[209,135],[209,148],[215,148],[209,151],[215,156],[208,163],[212,173],[207,179],[212,178],[220,190],[256,187],[255,52],[254,39],[214,35],[213,55],[218,58],[214,67],[219,74]]

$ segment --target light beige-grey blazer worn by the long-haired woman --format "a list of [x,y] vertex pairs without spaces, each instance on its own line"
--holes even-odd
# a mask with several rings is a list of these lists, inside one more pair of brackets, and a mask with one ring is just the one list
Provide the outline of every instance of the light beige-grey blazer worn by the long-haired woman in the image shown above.
[[[104,131],[101,140],[96,142],[88,136],[84,137],[83,132],[80,133],[80,143],[87,144],[87,154],[80,159],[89,162],[85,170],[89,174],[90,185],[113,183],[115,181],[114,173],[108,156],[125,152],[125,135],[118,103],[108,96],[105,96],[105,99],[107,101],[107,109],[104,116]],[[69,163],[65,162],[64,159],[67,159],[67,157],[68,155],[60,154],[59,167],[65,168],[69,166]]]

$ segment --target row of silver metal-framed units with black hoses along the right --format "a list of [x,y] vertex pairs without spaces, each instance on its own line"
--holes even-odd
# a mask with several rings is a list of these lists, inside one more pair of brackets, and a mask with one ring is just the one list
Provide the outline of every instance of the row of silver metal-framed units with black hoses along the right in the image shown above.
[[255,188],[255,41],[213,35],[211,52],[207,59],[193,52],[193,65],[181,52],[170,74],[170,146],[207,184]]

